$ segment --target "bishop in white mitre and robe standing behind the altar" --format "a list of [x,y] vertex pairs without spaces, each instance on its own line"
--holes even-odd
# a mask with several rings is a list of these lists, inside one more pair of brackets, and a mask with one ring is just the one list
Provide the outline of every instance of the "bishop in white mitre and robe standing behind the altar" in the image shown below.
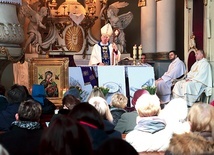
[[110,43],[109,39],[113,30],[110,24],[101,28],[101,41],[94,45],[89,65],[115,65],[120,61],[121,53],[115,43]]

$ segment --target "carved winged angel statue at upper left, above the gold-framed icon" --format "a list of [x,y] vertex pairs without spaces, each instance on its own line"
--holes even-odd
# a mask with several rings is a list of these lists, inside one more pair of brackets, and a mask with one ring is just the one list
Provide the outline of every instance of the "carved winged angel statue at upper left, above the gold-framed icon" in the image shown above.
[[22,7],[20,8],[19,13],[30,20],[27,30],[28,38],[23,47],[23,51],[25,51],[27,47],[32,44],[36,47],[37,52],[40,52],[39,47],[42,45],[42,37],[39,32],[39,28],[46,29],[46,26],[42,23],[42,20],[45,16],[47,16],[48,8],[41,7],[38,9],[38,6],[39,2],[33,3],[32,6],[30,6],[27,2],[23,2]]

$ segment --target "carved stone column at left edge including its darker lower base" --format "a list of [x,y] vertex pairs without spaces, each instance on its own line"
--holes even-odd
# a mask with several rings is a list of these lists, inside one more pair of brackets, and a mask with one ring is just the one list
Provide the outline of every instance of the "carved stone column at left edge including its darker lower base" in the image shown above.
[[0,82],[10,88],[13,81],[12,63],[23,60],[21,43],[24,31],[18,21],[17,5],[21,0],[0,0]]

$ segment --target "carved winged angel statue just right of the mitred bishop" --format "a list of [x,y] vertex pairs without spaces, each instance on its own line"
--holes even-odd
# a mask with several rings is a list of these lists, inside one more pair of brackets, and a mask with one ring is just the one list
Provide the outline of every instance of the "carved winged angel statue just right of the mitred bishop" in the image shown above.
[[128,6],[129,3],[127,2],[114,2],[113,4],[109,5],[107,9],[107,17],[108,21],[110,22],[112,28],[114,29],[113,36],[111,38],[112,42],[117,44],[118,49],[121,53],[126,52],[126,40],[125,40],[125,33],[124,29],[130,24],[133,19],[132,12],[127,12],[118,16],[118,12],[120,8],[124,8]]

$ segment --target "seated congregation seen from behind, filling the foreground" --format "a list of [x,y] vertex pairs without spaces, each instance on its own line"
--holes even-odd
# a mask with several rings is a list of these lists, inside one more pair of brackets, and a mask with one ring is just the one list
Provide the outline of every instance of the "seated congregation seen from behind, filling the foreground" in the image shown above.
[[[156,94],[139,89],[130,108],[123,94],[115,93],[109,105],[96,87],[88,101],[82,102],[79,91],[72,88],[55,113],[51,101],[30,95],[25,86],[15,84],[7,92],[3,85],[0,88],[0,154],[214,153],[211,104],[199,102],[188,108],[187,101],[179,97],[161,107]],[[44,91],[43,85],[34,88]],[[49,125],[42,122],[45,115],[51,116]]]

